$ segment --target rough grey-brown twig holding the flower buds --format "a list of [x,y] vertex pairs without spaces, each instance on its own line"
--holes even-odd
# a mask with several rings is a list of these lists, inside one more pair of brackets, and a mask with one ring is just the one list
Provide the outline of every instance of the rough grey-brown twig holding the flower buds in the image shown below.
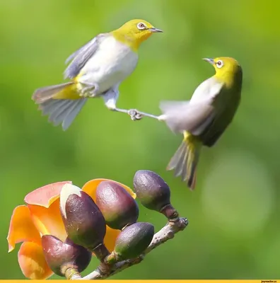
[[132,265],[136,265],[141,262],[146,254],[150,253],[151,250],[160,246],[171,238],[174,238],[175,233],[183,231],[187,227],[187,224],[187,219],[182,217],[170,220],[168,221],[168,224],[166,224],[160,231],[158,231],[158,233],[153,236],[153,240],[151,241],[150,245],[144,251],[144,253],[139,256],[139,258],[134,258],[131,260],[122,260],[120,262],[117,262],[115,263],[115,265],[112,265],[110,271],[106,273],[100,272],[100,269],[96,268],[96,270],[91,272],[89,275],[86,275],[85,277],[81,277],[80,275],[74,275],[73,277],[71,277],[71,279],[106,279],[107,277],[115,275],[118,272],[121,272],[122,270],[125,270],[128,267],[131,267]]

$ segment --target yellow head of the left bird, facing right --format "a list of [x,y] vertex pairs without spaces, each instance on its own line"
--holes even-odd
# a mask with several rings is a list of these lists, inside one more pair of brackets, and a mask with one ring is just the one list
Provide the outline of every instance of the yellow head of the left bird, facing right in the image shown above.
[[137,51],[141,43],[153,33],[163,33],[163,31],[141,19],[128,21],[117,30],[112,31],[112,35],[117,40],[129,45],[134,51]]

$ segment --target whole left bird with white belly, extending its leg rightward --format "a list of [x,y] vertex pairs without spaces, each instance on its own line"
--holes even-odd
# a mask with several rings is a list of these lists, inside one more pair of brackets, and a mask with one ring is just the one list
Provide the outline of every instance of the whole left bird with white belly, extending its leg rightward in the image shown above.
[[148,113],[124,110],[116,107],[119,84],[124,81],[138,62],[138,49],[144,40],[162,30],[144,20],[132,20],[117,30],[101,33],[71,54],[64,71],[64,79],[71,81],[56,86],[39,88],[33,100],[40,105],[49,122],[62,124],[66,130],[80,112],[88,98],[102,97],[108,109],[124,112],[132,120]]

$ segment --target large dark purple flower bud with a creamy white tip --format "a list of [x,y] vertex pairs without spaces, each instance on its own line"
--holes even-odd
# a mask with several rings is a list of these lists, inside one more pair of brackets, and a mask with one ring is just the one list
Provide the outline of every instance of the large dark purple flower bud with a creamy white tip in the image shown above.
[[64,185],[60,194],[60,212],[71,241],[91,251],[103,244],[105,219],[86,192],[75,185]]

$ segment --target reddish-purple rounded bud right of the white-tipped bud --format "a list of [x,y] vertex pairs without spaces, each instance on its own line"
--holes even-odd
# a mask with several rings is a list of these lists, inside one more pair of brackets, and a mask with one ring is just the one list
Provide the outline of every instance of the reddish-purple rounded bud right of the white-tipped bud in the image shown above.
[[112,181],[101,182],[96,190],[96,204],[105,217],[107,226],[122,230],[134,224],[139,216],[138,204],[121,185]]

